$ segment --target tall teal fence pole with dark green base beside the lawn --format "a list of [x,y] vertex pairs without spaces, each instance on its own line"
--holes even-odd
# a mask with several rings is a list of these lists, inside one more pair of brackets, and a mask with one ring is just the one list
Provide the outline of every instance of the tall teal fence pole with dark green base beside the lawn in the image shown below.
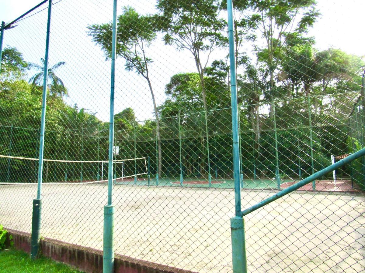
[[31,252],[30,252],[30,256],[32,259],[35,259],[38,255],[39,233],[41,230],[43,145],[45,140],[45,124],[46,124],[48,49],[49,49],[49,36],[50,36],[50,26],[51,26],[51,9],[52,9],[52,0],[49,0],[48,17],[47,17],[47,34],[46,34],[46,53],[45,53],[44,75],[43,75],[41,137],[39,139],[38,187],[37,187],[37,198],[33,200],[33,213],[32,213],[32,235],[31,235]]

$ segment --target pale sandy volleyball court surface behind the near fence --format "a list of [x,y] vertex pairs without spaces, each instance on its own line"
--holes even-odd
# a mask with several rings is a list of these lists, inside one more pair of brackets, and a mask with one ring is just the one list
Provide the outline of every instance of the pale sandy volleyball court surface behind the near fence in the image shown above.
[[[35,184],[0,185],[0,223],[31,231]],[[242,208],[274,192],[242,191]],[[231,272],[234,192],[115,185],[115,252],[196,272]],[[41,236],[103,249],[107,186],[44,183]],[[249,272],[365,270],[364,195],[292,193],[245,217]]]

